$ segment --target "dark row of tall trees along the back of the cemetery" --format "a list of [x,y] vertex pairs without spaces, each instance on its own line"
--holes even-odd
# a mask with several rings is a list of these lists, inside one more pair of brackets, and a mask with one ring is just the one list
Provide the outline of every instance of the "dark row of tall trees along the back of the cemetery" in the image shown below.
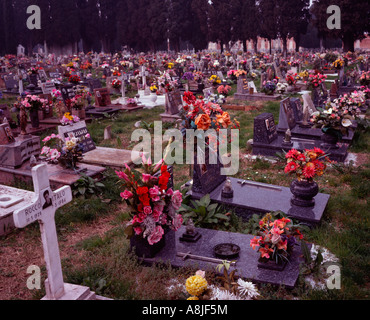
[[[236,41],[257,37],[269,41],[293,37],[297,48],[307,28],[322,38],[340,38],[345,49],[369,30],[368,0],[337,0],[341,29],[326,26],[329,0],[1,0],[0,54],[16,53],[19,44],[28,53],[36,44],[50,48],[72,46],[77,52],[114,52],[122,46],[135,51],[195,50],[219,42],[228,49]],[[41,9],[41,29],[29,30],[27,8]],[[352,44],[351,44],[352,43]],[[79,46],[77,45],[79,44]],[[270,46],[271,47],[271,46]]]

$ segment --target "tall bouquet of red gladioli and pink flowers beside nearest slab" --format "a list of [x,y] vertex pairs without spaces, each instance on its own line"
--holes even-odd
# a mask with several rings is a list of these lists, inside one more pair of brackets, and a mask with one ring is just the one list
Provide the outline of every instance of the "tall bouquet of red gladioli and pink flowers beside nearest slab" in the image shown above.
[[159,242],[166,228],[177,231],[183,222],[177,211],[182,204],[182,194],[168,188],[171,177],[163,160],[152,165],[143,156],[143,172],[126,165],[124,171],[116,171],[123,182],[121,197],[131,209],[132,220],[125,233],[129,238],[134,234],[147,239],[150,245]]

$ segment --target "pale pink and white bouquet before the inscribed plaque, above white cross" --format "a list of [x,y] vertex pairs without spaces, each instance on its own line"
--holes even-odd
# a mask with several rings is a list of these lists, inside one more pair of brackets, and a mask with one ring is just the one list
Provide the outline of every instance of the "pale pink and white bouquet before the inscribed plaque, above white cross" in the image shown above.
[[77,163],[83,158],[82,142],[89,137],[90,135],[87,134],[83,138],[72,137],[63,141],[59,135],[52,134],[42,140],[44,146],[41,155],[49,163],[60,164],[66,169],[76,170],[78,169]]

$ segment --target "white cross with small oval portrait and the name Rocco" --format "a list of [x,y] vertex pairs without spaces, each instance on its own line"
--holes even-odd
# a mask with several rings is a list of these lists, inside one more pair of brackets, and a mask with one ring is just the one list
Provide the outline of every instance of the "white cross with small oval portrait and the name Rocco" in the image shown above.
[[72,201],[72,191],[64,186],[53,192],[45,164],[32,168],[32,178],[35,198],[27,207],[16,210],[13,219],[17,228],[39,222],[48,274],[46,292],[49,299],[56,300],[64,295],[64,282],[54,217],[58,208]]

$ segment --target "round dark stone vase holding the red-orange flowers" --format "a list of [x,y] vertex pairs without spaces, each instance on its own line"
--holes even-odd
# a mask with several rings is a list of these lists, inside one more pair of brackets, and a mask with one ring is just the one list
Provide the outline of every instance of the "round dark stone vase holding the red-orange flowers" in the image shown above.
[[313,207],[314,197],[319,193],[319,186],[315,181],[294,180],[290,185],[293,194],[291,204],[299,207]]

